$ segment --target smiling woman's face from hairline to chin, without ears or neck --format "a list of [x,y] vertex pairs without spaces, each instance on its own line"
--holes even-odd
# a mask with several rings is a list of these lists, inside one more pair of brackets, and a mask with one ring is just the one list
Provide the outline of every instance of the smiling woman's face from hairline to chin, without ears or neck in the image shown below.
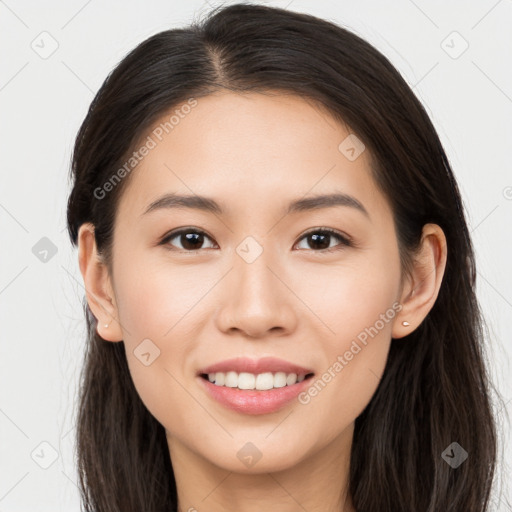
[[[400,309],[392,212],[368,151],[310,102],[225,92],[188,105],[146,134],[117,212],[111,278],[130,372],[171,456],[286,469],[350,442],[379,384]],[[172,194],[196,207],[155,203]],[[313,207],[330,194],[353,200]],[[219,209],[197,207],[198,196]],[[282,387],[220,388],[199,375],[238,357],[282,360],[256,374],[284,361],[314,376],[281,402]]]

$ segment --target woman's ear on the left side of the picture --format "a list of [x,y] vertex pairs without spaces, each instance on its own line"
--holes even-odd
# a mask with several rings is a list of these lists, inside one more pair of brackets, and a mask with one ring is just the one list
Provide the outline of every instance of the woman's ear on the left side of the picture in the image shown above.
[[98,334],[106,341],[122,341],[114,290],[108,268],[98,255],[94,225],[91,223],[82,224],[78,231],[78,263],[87,303],[98,321]]

